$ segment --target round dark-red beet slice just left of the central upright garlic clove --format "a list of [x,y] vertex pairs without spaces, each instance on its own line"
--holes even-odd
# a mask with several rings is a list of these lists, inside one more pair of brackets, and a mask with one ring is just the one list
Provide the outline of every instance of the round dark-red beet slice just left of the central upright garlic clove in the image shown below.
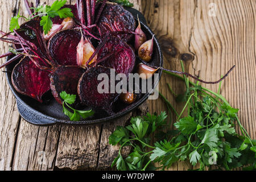
[[59,65],[77,65],[76,47],[81,40],[79,30],[64,30],[55,34],[48,43],[50,55]]

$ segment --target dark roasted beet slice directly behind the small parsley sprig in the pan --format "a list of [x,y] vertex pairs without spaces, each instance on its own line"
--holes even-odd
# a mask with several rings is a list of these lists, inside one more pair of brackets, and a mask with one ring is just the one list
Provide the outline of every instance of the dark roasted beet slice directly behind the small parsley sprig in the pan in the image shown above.
[[[51,73],[52,94],[59,104],[63,102],[60,98],[60,93],[63,91],[77,96],[77,85],[82,73],[84,69],[76,66],[58,67],[55,72]],[[75,104],[80,104],[78,97]]]

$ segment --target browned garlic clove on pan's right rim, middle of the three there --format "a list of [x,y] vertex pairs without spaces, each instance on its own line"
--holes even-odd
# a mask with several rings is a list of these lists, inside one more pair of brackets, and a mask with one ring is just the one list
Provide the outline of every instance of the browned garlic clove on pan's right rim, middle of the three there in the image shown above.
[[142,46],[139,48],[138,55],[143,61],[150,61],[152,58],[153,48],[154,48],[154,37],[148,40],[147,42],[143,43]]

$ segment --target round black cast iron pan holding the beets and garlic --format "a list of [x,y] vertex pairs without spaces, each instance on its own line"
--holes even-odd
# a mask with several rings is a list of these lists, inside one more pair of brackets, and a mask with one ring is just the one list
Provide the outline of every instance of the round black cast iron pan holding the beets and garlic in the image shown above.
[[[147,35],[147,39],[151,39],[153,32],[146,26],[146,20],[144,16],[135,9],[129,8],[127,9],[132,13],[137,19],[137,14],[139,15],[139,19],[141,20],[142,30]],[[150,62],[151,65],[162,67],[163,66],[163,55],[158,43],[158,40],[154,40],[154,53],[153,53],[152,60]],[[7,58],[8,59],[8,58]],[[138,60],[137,60],[138,61]],[[125,105],[121,101],[117,101],[115,103],[115,115],[109,116],[104,111],[96,111],[96,114],[92,118],[88,118],[84,121],[79,122],[73,122],[68,119],[66,115],[63,114],[63,108],[61,105],[59,105],[51,93],[49,92],[44,96],[44,100],[48,100],[47,102],[44,102],[43,104],[40,104],[38,101],[33,100],[30,97],[23,96],[22,94],[19,94],[14,89],[13,84],[11,83],[11,73],[13,71],[13,68],[18,63],[16,61],[13,64],[10,64],[6,67],[6,77],[8,84],[10,85],[11,91],[13,92],[14,96],[16,97],[18,110],[22,118],[24,118],[27,122],[33,124],[33,125],[39,125],[39,126],[48,126],[48,125],[55,125],[55,124],[66,124],[66,125],[91,125],[95,123],[102,123],[111,121],[113,119],[122,117],[123,115],[126,115],[130,113],[132,110],[136,109],[139,105],[141,105],[144,101],[147,100],[148,96],[150,96],[150,91],[147,94],[141,94],[136,102],[134,102],[131,105]],[[138,62],[137,62],[138,64]],[[159,79],[162,75],[162,71],[159,70]],[[154,79],[153,79],[154,81]],[[152,90],[154,90],[155,86],[158,84],[159,80],[157,82],[154,82],[154,86]],[[151,91],[152,91],[151,90]],[[86,107],[83,107],[81,109],[86,110]]]

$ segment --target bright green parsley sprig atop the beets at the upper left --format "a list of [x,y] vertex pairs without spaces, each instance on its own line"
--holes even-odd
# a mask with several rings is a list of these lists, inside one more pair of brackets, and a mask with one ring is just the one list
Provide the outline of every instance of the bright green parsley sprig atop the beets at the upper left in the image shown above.
[[68,17],[73,17],[73,13],[71,12],[72,10],[65,7],[61,9],[67,0],[60,0],[60,1],[55,1],[52,3],[52,6],[38,6],[38,7],[33,7],[31,9],[34,9],[34,13],[28,17],[20,15],[20,10],[18,15],[14,16],[11,18],[10,22],[10,31],[13,32],[14,29],[20,28],[19,26],[19,18],[24,18],[27,21],[34,19],[38,16],[41,16],[40,20],[40,26],[43,27],[44,34],[48,34],[48,32],[52,28],[52,20],[51,18],[54,18],[55,16],[59,16],[60,18],[68,18]]

